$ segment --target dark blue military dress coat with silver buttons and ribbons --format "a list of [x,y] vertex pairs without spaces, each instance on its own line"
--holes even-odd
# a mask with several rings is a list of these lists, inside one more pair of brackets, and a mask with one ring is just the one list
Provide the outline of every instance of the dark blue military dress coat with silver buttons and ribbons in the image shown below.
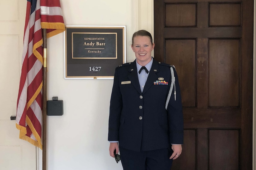
[[115,69],[108,140],[132,151],[183,144],[181,93],[173,66],[153,59],[142,92],[136,61]]

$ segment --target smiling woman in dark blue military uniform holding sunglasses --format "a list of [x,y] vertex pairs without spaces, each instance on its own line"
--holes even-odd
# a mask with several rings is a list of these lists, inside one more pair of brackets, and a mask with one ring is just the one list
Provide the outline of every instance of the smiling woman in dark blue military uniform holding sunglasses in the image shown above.
[[182,152],[183,114],[174,66],[155,61],[145,30],[132,36],[136,60],[115,70],[110,99],[110,156],[120,151],[124,170],[170,170]]

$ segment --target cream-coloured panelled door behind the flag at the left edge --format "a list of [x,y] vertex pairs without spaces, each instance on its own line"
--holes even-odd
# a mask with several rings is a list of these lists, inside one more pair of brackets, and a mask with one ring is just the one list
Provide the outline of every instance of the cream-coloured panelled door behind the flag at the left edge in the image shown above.
[[27,1],[0,1],[0,170],[35,170],[36,147],[19,138],[16,121]]

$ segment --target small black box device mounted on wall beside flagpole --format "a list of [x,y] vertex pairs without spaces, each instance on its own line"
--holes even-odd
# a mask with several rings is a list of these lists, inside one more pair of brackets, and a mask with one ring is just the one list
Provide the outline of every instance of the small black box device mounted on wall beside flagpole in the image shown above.
[[58,100],[58,97],[52,97],[52,100],[47,100],[47,115],[63,115],[63,100]]

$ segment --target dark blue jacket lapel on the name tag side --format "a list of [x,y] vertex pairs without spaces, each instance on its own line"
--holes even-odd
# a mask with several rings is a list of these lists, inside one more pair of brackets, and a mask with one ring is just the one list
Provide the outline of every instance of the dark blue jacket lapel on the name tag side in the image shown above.
[[134,88],[141,94],[141,88],[140,88],[138,74],[137,74],[136,60],[134,60],[134,62],[131,63],[131,66],[128,71],[129,71],[128,78],[130,79]]

